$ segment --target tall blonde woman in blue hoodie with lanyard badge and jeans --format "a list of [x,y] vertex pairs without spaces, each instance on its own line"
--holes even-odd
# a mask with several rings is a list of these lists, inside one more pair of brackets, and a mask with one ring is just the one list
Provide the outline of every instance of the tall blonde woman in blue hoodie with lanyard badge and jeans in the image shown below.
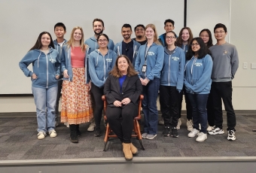
[[157,136],[157,96],[160,86],[160,73],[163,68],[164,50],[157,40],[157,30],[154,24],[145,28],[147,44],[139,47],[135,69],[142,81],[142,100],[144,114],[144,132],[142,138],[153,139]]

